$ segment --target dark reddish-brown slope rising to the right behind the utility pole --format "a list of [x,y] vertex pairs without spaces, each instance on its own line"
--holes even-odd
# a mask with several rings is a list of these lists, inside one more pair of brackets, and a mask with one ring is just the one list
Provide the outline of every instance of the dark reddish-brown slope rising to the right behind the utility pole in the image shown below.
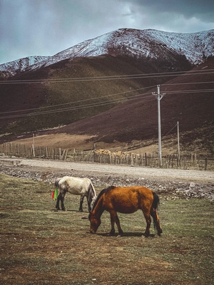
[[[180,133],[191,132],[187,143],[191,144],[197,139],[201,129],[204,130],[203,138],[199,137],[198,140],[208,140],[209,143],[213,141],[213,133],[210,130],[213,128],[214,97],[213,91],[207,92],[209,89],[213,90],[213,68],[214,58],[210,58],[193,71],[161,85],[161,93],[165,93],[161,100],[163,136],[175,133],[176,128],[172,132],[170,130],[179,121]],[[46,133],[96,135],[97,141],[105,142],[156,139],[158,136],[157,100],[151,94],[152,92],[157,92],[157,88],[149,90],[141,98],[128,100],[92,118]]]

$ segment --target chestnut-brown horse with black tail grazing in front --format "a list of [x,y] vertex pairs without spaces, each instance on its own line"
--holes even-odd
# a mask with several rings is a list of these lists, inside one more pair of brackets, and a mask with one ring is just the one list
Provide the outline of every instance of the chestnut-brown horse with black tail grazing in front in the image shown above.
[[88,219],[91,223],[90,232],[91,234],[96,233],[101,224],[101,215],[106,210],[111,215],[111,232],[109,234],[115,234],[114,224],[116,222],[118,232],[122,235],[123,230],[121,229],[117,212],[131,214],[136,212],[138,209],[141,209],[147,224],[144,235],[148,237],[150,234],[150,216],[152,216],[154,226],[158,230],[158,235],[161,236],[161,224],[156,212],[158,204],[158,195],[146,187],[111,186],[107,189],[103,189],[98,195],[96,202],[93,204],[93,209],[89,212]]

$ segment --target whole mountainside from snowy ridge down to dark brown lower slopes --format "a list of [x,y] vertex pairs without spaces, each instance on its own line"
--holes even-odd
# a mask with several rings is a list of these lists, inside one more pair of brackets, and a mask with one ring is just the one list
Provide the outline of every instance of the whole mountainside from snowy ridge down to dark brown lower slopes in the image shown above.
[[123,28],[55,56],[0,65],[0,142],[62,125],[46,133],[87,133],[110,142],[157,138],[157,101],[151,93],[160,84],[166,93],[163,135],[179,121],[181,132],[194,131],[194,140],[209,145],[213,40],[214,30]]

